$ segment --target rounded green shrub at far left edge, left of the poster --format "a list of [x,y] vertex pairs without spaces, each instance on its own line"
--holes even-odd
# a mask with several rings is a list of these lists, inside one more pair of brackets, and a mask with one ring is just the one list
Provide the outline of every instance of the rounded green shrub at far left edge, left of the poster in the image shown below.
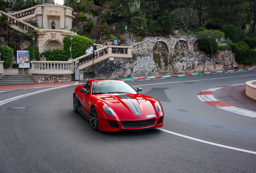
[[12,65],[13,50],[9,46],[1,46],[1,60],[4,61],[4,68],[9,68]]

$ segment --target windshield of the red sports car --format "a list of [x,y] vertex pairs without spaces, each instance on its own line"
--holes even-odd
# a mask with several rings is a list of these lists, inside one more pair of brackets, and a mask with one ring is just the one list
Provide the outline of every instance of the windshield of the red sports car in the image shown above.
[[99,80],[93,82],[92,94],[137,93],[134,88],[121,80]]

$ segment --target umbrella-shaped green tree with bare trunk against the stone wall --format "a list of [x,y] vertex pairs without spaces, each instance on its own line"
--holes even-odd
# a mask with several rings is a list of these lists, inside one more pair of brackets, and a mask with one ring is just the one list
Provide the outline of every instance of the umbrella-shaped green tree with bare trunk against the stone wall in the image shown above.
[[200,31],[198,35],[198,40],[201,40],[205,42],[204,40],[207,40],[209,42],[211,47],[211,58],[213,58],[213,42],[216,41],[216,39],[221,40],[221,38],[224,36],[224,33],[220,30],[204,30]]

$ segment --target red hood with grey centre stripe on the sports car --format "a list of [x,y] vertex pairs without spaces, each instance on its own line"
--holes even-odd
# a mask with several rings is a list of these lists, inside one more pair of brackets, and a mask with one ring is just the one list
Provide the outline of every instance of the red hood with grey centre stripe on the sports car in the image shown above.
[[[140,116],[155,113],[149,98],[141,94],[97,95],[118,116]],[[152,98],[151,98],[152,99]]]

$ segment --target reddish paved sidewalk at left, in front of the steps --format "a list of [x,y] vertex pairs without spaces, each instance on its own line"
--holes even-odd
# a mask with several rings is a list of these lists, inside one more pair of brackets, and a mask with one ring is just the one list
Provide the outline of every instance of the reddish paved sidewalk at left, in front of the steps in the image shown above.
[[23,84],[23,85],[0,85],[1,90],[15,90],[15,89],[31,89],[41,87],[57,87],[62,85],[76,84],[77,81],[59,82],[59,83],[38,83],[38,84]]

